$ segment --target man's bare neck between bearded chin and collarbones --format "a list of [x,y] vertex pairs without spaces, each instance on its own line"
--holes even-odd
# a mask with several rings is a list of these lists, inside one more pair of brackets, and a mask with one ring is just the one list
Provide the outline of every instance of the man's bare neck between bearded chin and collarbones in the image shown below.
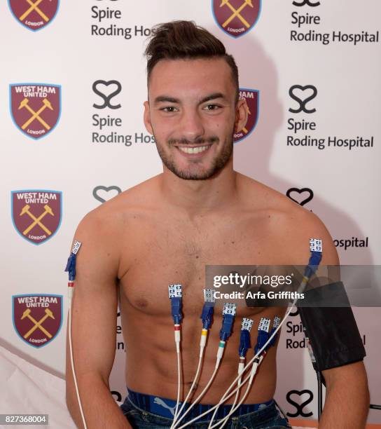
[[180,179],[164,166],[160,177],[162,198],[190,216],[222,208],[233,203],[237,192],[237,173],[233,157],[213,177],[205,180]]

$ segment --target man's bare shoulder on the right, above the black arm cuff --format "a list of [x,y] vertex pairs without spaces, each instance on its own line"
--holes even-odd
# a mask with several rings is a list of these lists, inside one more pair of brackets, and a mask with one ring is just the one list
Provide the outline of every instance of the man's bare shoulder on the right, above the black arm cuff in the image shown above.
[[310,238],[323,243],[321,264],[338,264],[331,234],[317,214],[293,202],[275,189],[249,177],[242,177],[245,200],[255,201],[252,210],[266,220],[267,231],[277,250],[289,264],[304,264],[310,254]]

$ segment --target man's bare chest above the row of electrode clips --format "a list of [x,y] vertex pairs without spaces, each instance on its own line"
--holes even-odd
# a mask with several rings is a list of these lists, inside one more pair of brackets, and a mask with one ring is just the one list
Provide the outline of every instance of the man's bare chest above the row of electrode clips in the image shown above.
[[[132,262],[120,280],[123,299],[134,310],[159,317],[169,311],[168,285],[177,283],[183,288],[183,312],[200,315],[203,289],[212,287],[205,282],[207,265],[276,263],[272,239],[255,222],[145,225],[130,246]],[[258,311],[241,305],[237,315]]]

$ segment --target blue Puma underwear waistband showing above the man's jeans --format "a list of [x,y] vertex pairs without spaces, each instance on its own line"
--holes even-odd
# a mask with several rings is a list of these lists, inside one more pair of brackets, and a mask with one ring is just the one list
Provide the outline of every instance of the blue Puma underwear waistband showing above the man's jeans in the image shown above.
[[[157,414],[158,416],[173,418],[174,411],[176,409],[176,401],[168,399],[166,397],[160,397],[155,395],[147,395],[146,393],[138,393],[133,390],[127,388],[128,390],[128,399],[132,402],[132,404],[136,405],[140,409],[147,411],[149,413]],[[261,404],[242,404],[237,408],[236,411],[231,415],[232,417],[243,416],[244,414],[253,413],[254,411],[258,411],[268,407],[273,402],[273,400],[262,402]],[[179,409],[183,402],[179,403]],[[181,414],[183,414],[186,409],[189,407],[189,403],[183,408]],[[186,421],[190,421],[193,418],[200,416],[200,414],[204,413],[208,409],[214,407],[213,404],[195,404],[195,406],[188,412],[186,417],[184,418],[184,423]],[[220,418],[226,417],[229,414],[230,409],[232,408],[231,404],[221,405],[215,418],[219,420]],[[207,420],[212,418],[213,411],[209,414],[206,414],[202,420]]]

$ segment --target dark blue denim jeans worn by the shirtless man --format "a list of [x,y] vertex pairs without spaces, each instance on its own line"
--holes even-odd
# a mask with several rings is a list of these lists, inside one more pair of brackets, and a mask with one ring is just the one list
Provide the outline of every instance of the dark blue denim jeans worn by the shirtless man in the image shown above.
[[[172,425],[171,418],[162,417],[158,414],[152,414],[148,411],[144,411],[144,409],[140,409],[128,399],[128,396],[125,398],[125,402],[120,406],[120,409],[123,411],[127,421],[130,423],[130,425],[132,425],[132,428],[169,429]],[[187,426],[187,428],[207,429],[209,420],[205,420],[205,417],[203,418],[204,420],[195,421],[191,423],[191,425]],[[213,424],[219,421],[221,420],[215,420]],[[183,424],[184,422],[181,421],[179,426]],[[289,424],[287,418],[281,416],[275,405],[275,402],[272,401],[270,405],[258,411],[254,411],[249,414],[243,414],[242,416],[230,417],[224,428],[289,429],[291,428],[291,425]]]

